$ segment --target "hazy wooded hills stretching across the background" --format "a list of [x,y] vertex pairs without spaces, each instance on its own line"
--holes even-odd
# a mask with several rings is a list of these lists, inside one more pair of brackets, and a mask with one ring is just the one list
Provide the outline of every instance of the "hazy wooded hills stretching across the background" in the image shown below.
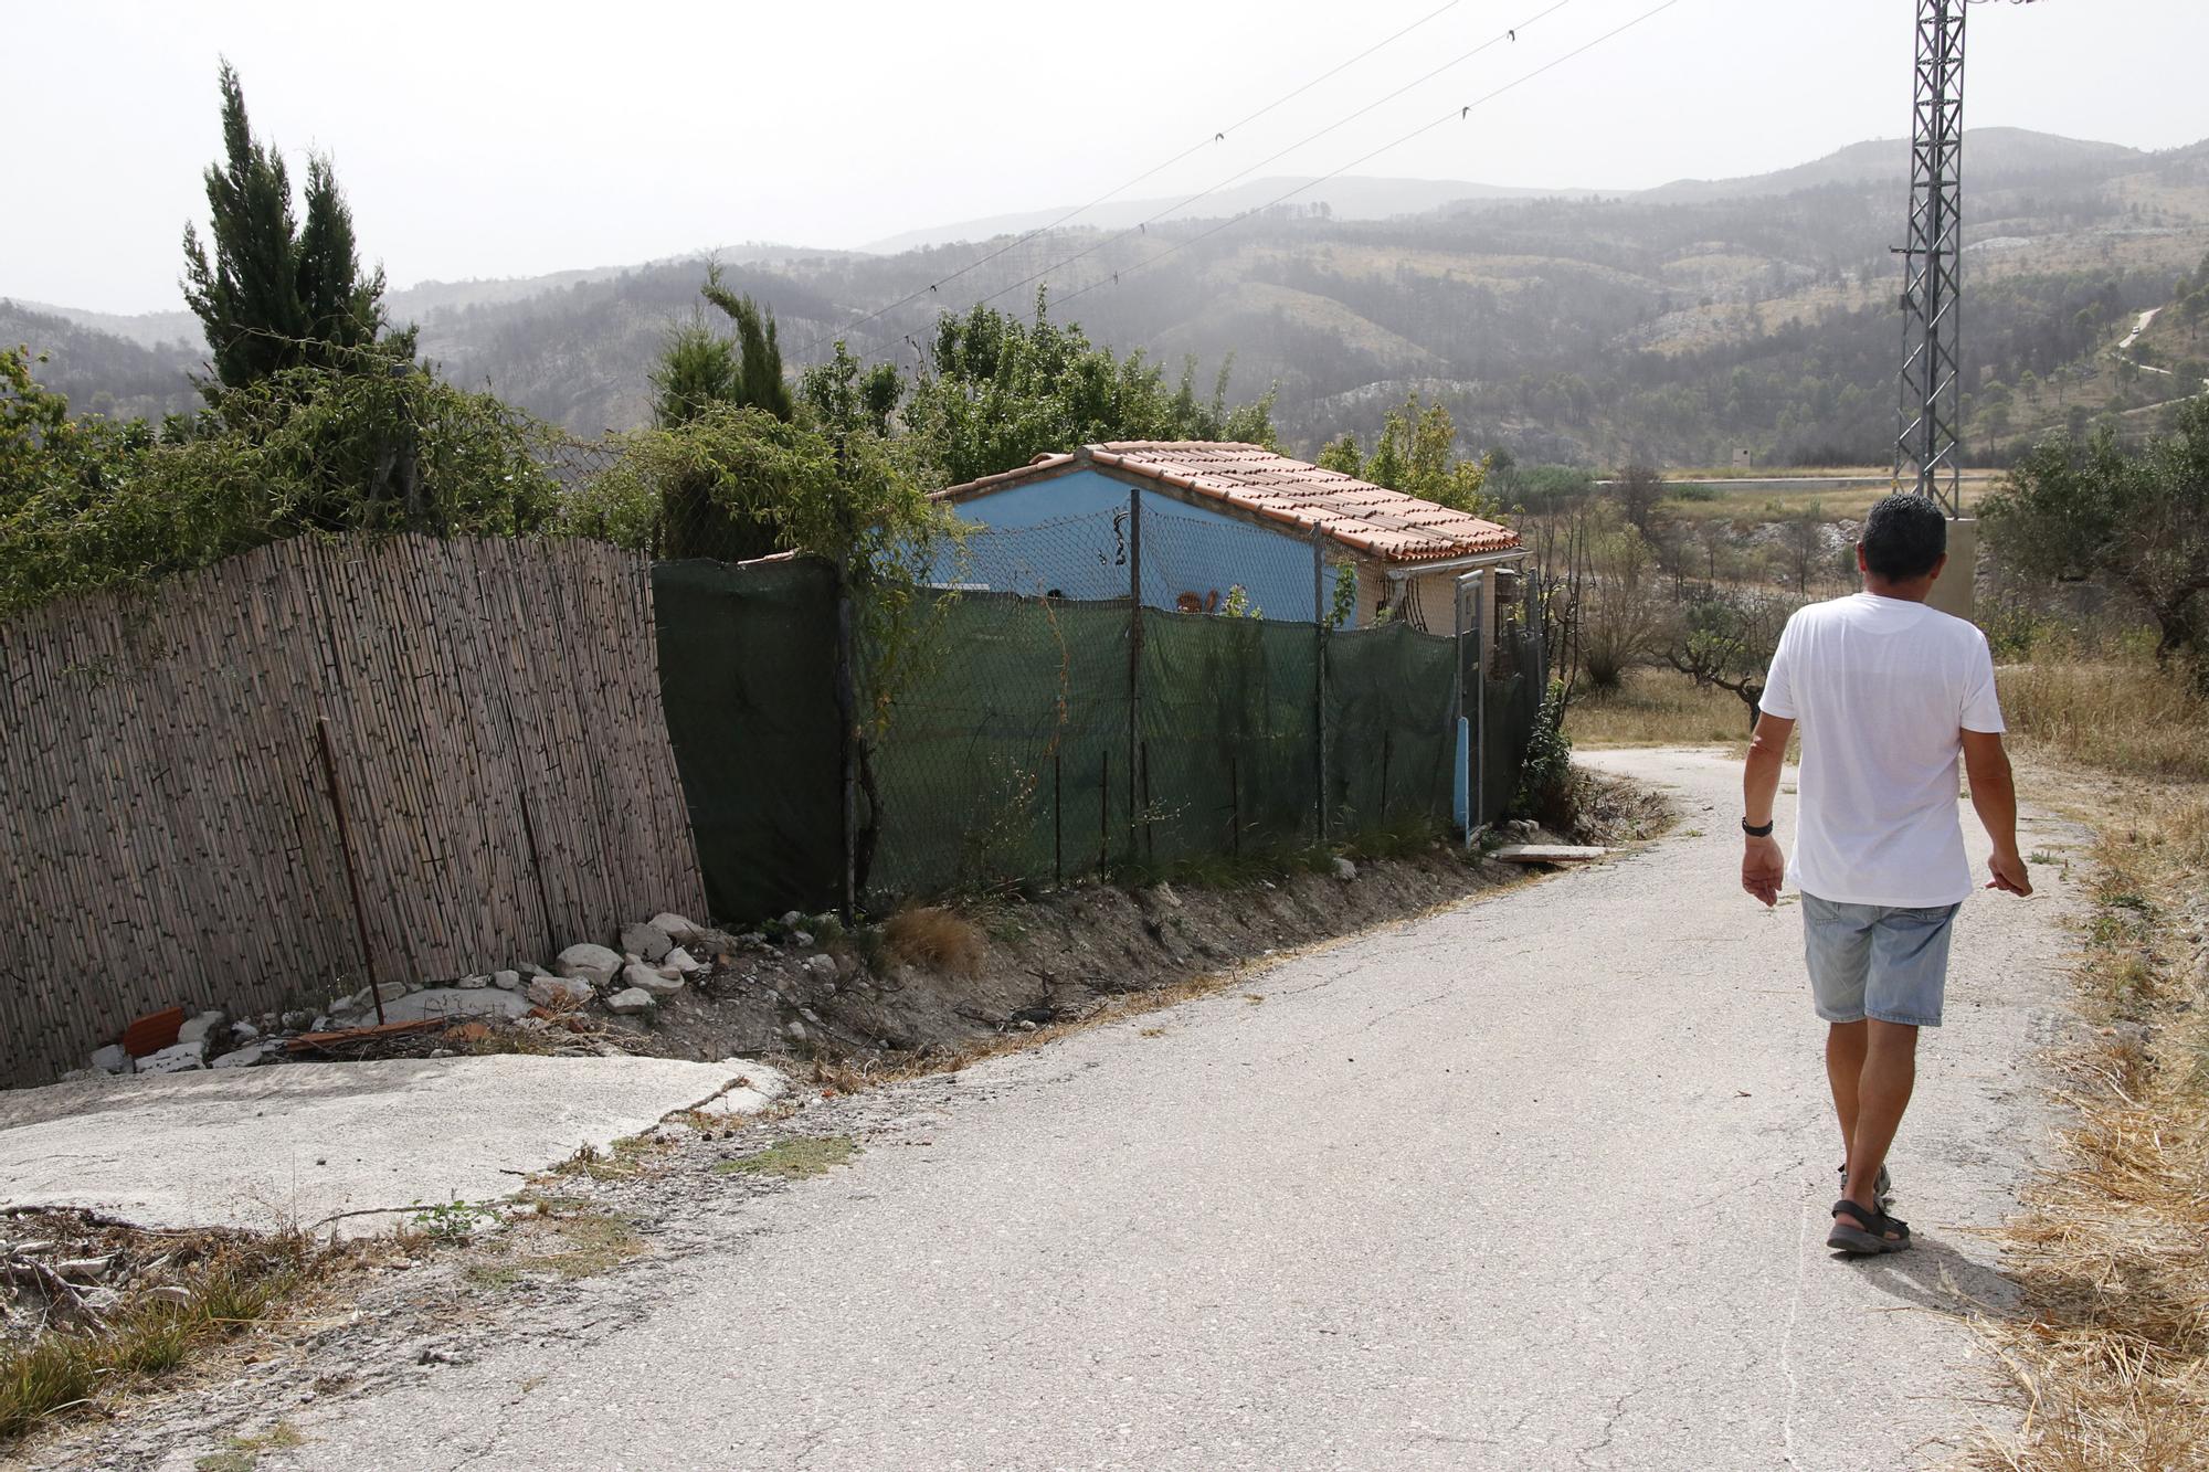
[[[2046,407],[2039,393],[2012,396],[2015,435],[2068,416],[2072,378],[2099,371],[2129,320],[2171,301],[2180,272],[2209,254],[2209,141],[2138,153],[1984,128],[1964,159],[1966,380],[1988,402],[2006,387],[2057,385]],[[910,367],[939,312],[976,301],[1029,312],[1047,278],[1054,316],[1100,343],[1175,369],[1195,356],[1206,385],[1233,356],[1230,393],[1275,389],[1292,449],[1345,429],[1370,435],[1418,389],[1451,407],[1462,449],[1502,444],[1520,460],[1710,464],[1747,449],[1763,464],[1878,462],[1895,416],[1900,267],[1889,248],[1902,236],[1906,164],[1900,141],[1871,141],[1754,179],[1639,194],[1334,179],[1226,228],[1244,194],[1208,199],[1208,221],[1140,232],[1085,223],[1021,241],[1021,221],[1051,219],[1023,214],[1003,223],[1010,236],[976,243],[744,248],[725,261],[731,285],[775,312],[793,365],[844,336],[859,356]],[[1248,199],[1279,192],[1250,186]],[[596,435],[645,420],[654,354],[696,309],[700,276],[702,256],[689,256],[424,283],[391,305],[422,325],[424,356],[453,380]],[[77,334],[93,320],[42,316]],[[55,354],[80,385],[73,398],[144,398],[117,385],[179,362],[175,347],[99,349],[102,336]],[[172,345],[172,316],[133,336]],[[2163,349],[2176,362],[2191,345]],[[2105,387],[2096,411],[2121,411],[2138,391]]]

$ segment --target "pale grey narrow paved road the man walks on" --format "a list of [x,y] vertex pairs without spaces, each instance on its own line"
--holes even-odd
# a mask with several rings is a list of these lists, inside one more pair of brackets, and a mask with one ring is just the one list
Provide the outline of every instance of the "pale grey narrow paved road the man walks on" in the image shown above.
[[1736,886],[1736,767],[1597,760],[1670,785],[1681,831],[1286,961],[1261,1003],[976,1068],[926,1149],[773,1198],[643,1322],[316,1403],[261,1468],[1942,1457],[2004,1415],[1944,1308],[2004,1300],[1970,1229],[2048,1147],[2072,897],[2041,866],[1966,906],[1895,1158],[1920,1249],[1838,1262],[1800,919]]

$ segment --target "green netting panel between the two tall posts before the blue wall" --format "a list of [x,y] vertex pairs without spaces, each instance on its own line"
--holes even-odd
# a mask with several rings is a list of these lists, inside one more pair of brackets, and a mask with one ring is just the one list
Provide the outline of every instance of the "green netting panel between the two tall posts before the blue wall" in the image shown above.
[[1319,630],[1202,612],[1142,623],[1138,858],[1317,842]]

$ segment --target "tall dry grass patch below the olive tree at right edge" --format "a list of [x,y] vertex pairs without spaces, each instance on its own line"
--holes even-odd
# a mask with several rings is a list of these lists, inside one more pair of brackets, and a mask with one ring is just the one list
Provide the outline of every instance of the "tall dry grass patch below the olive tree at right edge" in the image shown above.
[[2209,782],[2209,698],[2147,661],[2006,665],[2010,729],[2052,756],[2123,776]]

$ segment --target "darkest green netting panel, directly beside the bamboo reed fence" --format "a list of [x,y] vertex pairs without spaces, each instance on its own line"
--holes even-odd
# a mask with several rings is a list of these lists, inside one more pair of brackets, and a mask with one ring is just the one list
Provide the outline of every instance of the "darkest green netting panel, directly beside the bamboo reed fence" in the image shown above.
[[744,924],[844,893],[835,568],[652,568],[667,736],[707,906]]

